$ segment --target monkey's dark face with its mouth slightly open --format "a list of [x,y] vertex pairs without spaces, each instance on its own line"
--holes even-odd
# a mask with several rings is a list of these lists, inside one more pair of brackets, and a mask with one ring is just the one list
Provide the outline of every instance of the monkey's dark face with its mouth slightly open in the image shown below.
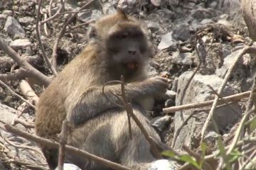
[[118,78],[121,74],[125,79],[137,76],[151,55],[142,29],[131,23],[118,24],[112,28],[105,45],[110,67],[118,74]]

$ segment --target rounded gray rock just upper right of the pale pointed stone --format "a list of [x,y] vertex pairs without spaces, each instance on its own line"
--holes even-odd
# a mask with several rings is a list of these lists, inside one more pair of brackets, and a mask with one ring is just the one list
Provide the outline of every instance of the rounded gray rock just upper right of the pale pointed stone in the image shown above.
[[175,40],[182,40],[182,41],[186,41],[189,38],[191,38],[191,34],[189,33],[189,26],[186,23],[183,23],[179,26],[176,26],[176,28],[174,28],[174,31],[172,33],[172,37]]

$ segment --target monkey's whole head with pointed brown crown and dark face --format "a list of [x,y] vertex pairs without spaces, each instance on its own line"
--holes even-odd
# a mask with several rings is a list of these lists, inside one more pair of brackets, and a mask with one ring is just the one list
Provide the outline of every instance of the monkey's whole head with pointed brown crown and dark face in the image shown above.
[[124,79],[129,81],[139,76],[149,57],[153,56],[142,24],[122,11],[97,21],[89,36],[105,52],[103,56],[107,57],[107,67],[115,79],[124,75]]

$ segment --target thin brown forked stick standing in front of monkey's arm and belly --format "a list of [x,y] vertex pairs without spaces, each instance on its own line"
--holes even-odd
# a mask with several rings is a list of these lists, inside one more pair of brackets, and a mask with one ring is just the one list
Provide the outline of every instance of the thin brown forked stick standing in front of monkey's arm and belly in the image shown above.
[[152,137],[149,136],[149,133],[146,132],[146,129],[144,128],[142,123],[139,121],[137,116],[133,113],[131,103],[128,103],[128,101],[127,101],[127,96],[125,95],[124,77],[123,76],[121,77],[121,81],[122,81],[122,83],[121,83],[121,91],[122,91],[121,96],[122,96],[122,103],[124,105],[125,110],[127,111],[127,113],[129,113],[129,115],[131,115],[134,122],[137,124],[139,129],[142,131],[142,134],[144,135],[146,140],[149,142],[149,145],[151,146],[152,152],[154,153],[155,157],[158,158],[158,159],[162,159],[163,157],[161,156],[161,153],[159,152],[159,150],[156,147],[156,142],[153,140]]

